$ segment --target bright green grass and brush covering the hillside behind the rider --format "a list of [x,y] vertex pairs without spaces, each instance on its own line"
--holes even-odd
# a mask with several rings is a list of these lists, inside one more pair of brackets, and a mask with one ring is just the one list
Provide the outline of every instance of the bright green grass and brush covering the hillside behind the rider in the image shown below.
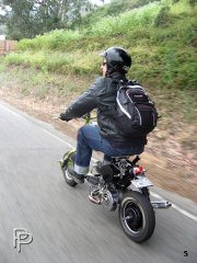
[[[129,78],[138,79],[159,98],[159,104],[167,107],[166,114],[182,111],[188,121],[197,119],[195,1],[114,1],[89,13],[80,26],[76,23],[71,27],[74,30],[55,30],[22,39],[18,53],[7,56],[4,64],[40,69],[50,76],[94,79],[101,75],[97,54],[109,46],[121,46],[132,57]],[[47,92],[39,91],[39,96]]]

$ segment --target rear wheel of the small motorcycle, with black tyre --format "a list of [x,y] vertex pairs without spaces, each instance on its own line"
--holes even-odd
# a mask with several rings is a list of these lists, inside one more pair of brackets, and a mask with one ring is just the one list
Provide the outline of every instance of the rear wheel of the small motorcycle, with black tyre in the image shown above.
[[125,233],[138,243],[148,240],[155,227],[154,211],[150,202],[136,191],[123,196],[119,220]]

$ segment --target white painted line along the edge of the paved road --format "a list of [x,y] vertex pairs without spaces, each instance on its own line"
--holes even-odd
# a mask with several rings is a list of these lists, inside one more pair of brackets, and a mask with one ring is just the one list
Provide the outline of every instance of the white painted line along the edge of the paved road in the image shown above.
[[[14,111],[8,108],[7,106],[4,106],[4,105],[2,105],[2,104],[0,104],[0,105],[1,105],[2,107],[4,107],[7,111],[11,112],[12,114],[15,114],[15,115],[18,115],[19,117],[22,117],[23,119],[26,119],[26,118],[23,117],[21,114],[15,113]],[[46,134],[53,136],[54,138],[60,140],[61,142],[63,142],[65,145],[67,145],[67,146],[70,147],[71,149],[73,148],[72,145],[70,145],[69,142],[67,142],[67,141],[65,141],[63,139],[59,138],[58,136],[54,135],[53,133],[48,132],[47,129],[43,128],[43,130],[44,130]],[[95,161],[95,162],[97,161],[97,160],[94,159],[94,158],[92,158],[92,160]],[[164,199],[162,196],[160,196],[160,195],[158,195],[158,194],[155,194],[155,193],[153,193],[153,192],[150,192],[150,194],[151,194],[153,197],[158,198],[158,199]],[[172,207],[173,207],[175,210],[179,211],[181,214],[183,214],[183,215],[189,217],[190,219],[197,221],[197,217],[196,217],[196,216],[194,216],[193,214],[184,210],[183,208],[178,207],[177,205],[172,204]]]

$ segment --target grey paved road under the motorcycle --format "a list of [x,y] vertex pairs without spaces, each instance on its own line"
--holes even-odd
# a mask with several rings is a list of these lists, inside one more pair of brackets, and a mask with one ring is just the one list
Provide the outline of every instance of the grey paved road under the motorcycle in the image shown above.
[[[196,262],[194,219],[173,208],[158,210],[153,237],[137,244],[124,235],[116,211],[88,201],[88,185],[66,185],[56,161],[70,149],[67,141],[73,144],[0,102],[0,263]],[[194,203],[175,198],[194,211]],[[14,228],[33,235],[21,253],[13,248]]]

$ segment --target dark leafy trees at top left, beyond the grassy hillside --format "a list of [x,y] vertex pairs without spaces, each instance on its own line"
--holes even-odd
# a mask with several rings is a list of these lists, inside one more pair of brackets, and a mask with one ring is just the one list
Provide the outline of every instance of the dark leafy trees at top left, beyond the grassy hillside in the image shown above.
[[71,20],[80,20],[82,9],[91,10],[89,0],[0,0],[9,5],[5,19],[9,36],[32,38],[37,34],[67,27]]

